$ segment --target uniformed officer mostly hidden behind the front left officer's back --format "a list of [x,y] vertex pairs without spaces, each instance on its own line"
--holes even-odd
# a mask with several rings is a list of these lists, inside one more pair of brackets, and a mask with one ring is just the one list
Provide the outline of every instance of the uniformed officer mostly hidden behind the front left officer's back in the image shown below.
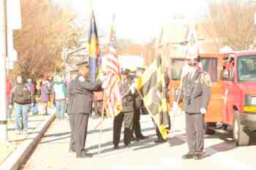
[[69,152],[75,152],[75,114],[72,112],[72,104],[74,104],[75,98],[75,77],[78,74],[78,69],[73,69],[70,71],[71,81],[67,85],[67,113],[69,115],[69,125],[70,125],[70,144]]

